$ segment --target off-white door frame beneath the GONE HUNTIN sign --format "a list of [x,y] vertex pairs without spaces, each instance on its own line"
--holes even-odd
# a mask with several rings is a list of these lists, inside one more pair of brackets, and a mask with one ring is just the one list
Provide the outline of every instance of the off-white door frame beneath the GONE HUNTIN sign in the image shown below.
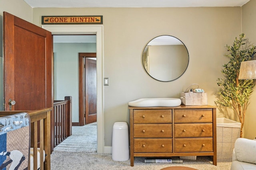
[[96,34],[97,53],[97,152],[104,151],[104,101],[103,101],[103,25],[42,25],[43,29],[52,32],[53,35],[77,35]]

